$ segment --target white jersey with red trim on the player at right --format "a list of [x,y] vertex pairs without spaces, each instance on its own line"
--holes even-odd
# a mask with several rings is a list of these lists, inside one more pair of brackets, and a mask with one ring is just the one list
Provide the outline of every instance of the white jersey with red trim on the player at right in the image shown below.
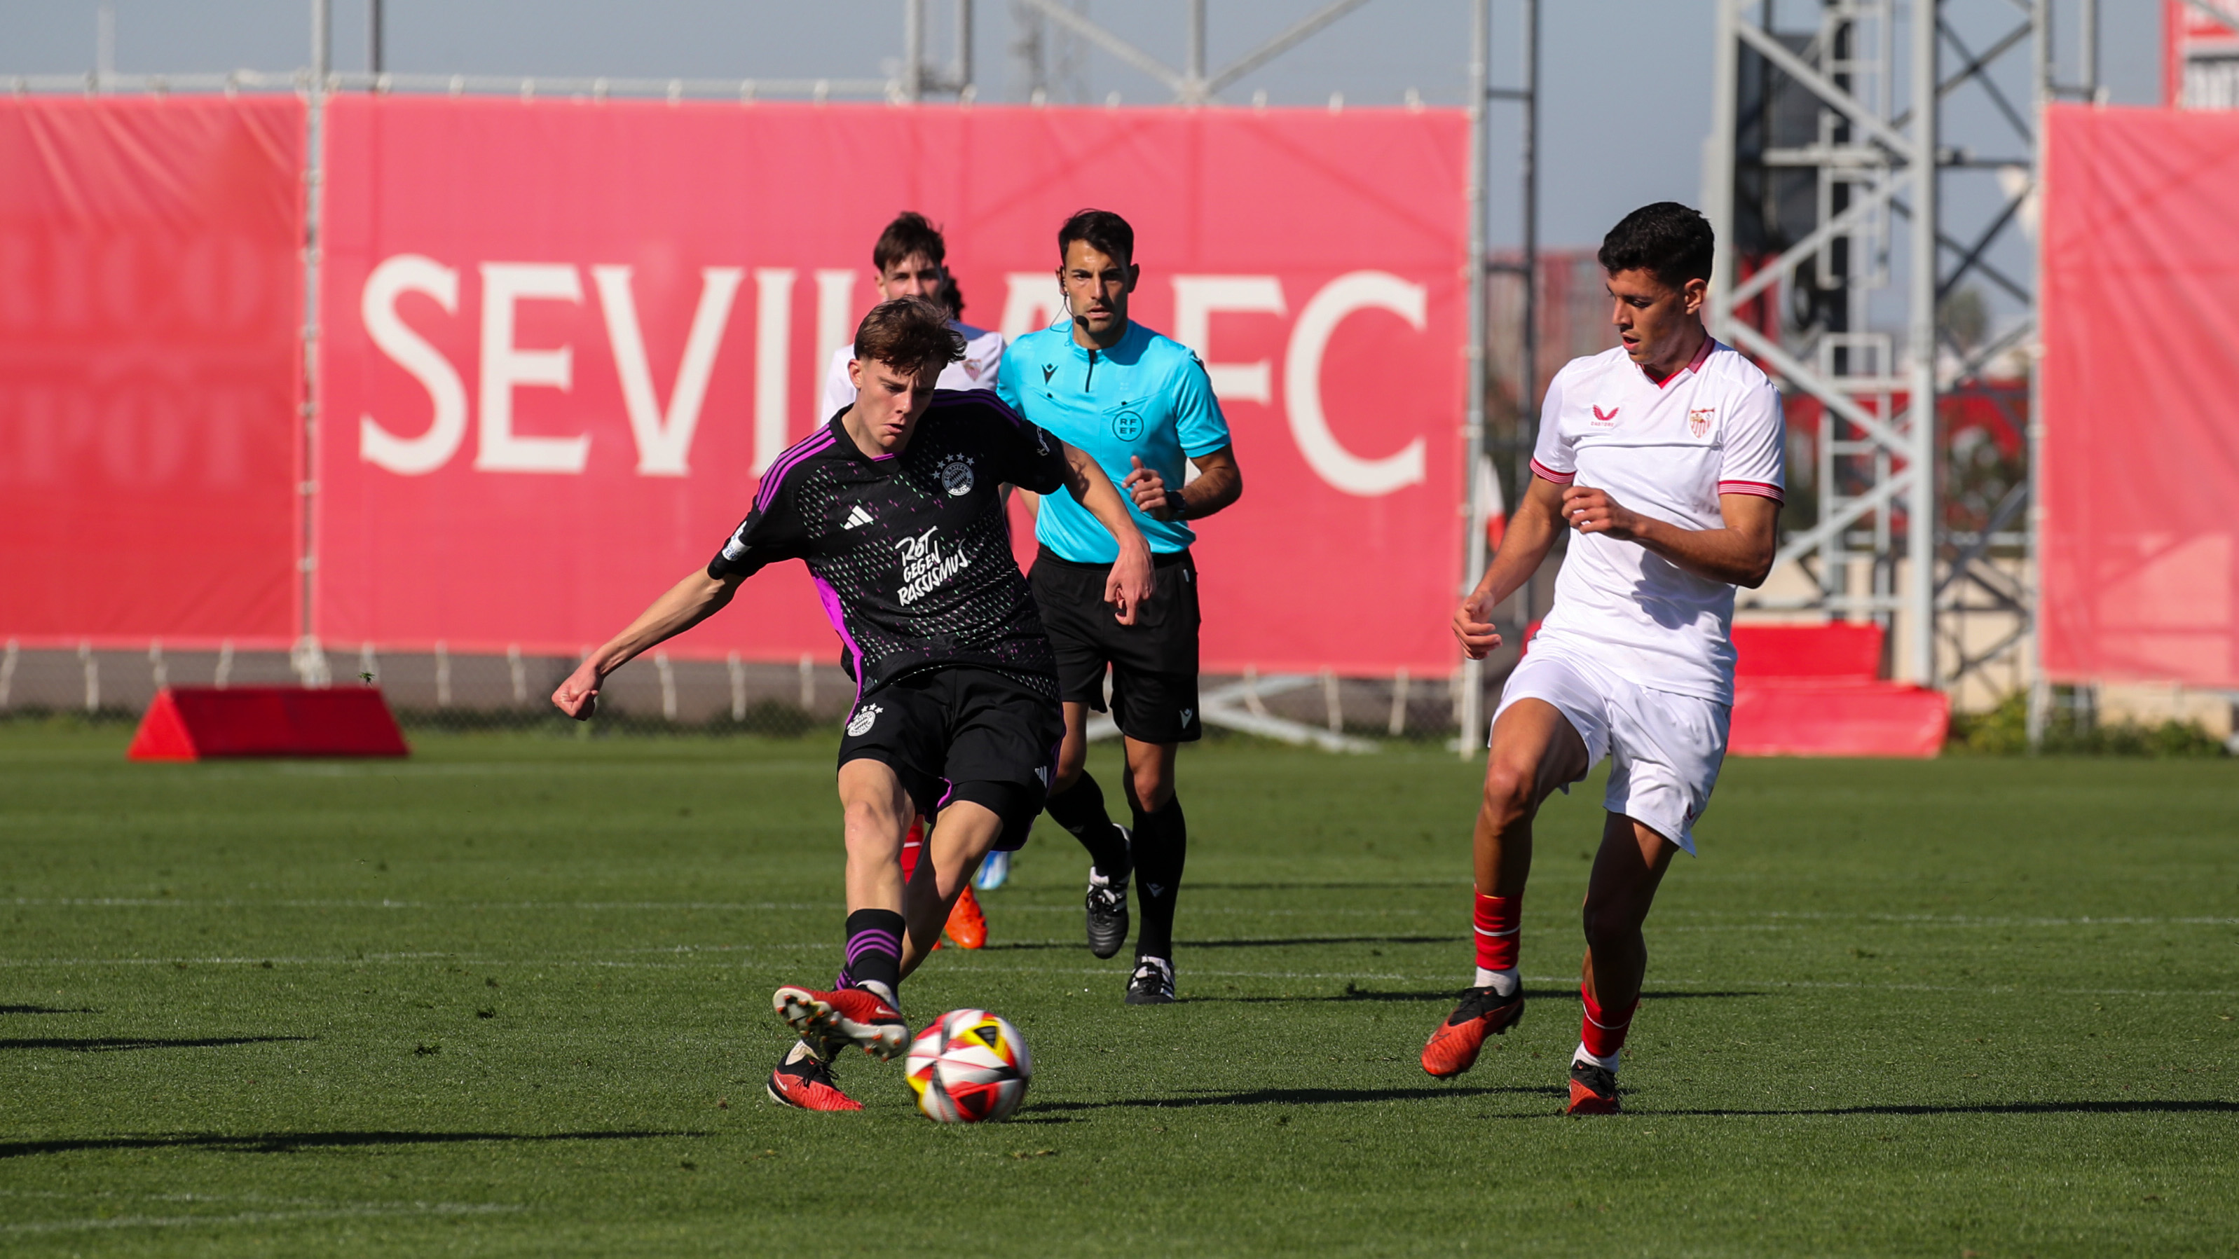
[[[1720,495],[1784,497],[1782,448],[1780,390],[1704,338],[1661,385],[1623,347],[1565,363],[1547,385],[1531,473],[1679,529],[1722,529]],[[1639,686],[1733,703],[1733,587],[1639,542],[1572,533],[1538,636]]]

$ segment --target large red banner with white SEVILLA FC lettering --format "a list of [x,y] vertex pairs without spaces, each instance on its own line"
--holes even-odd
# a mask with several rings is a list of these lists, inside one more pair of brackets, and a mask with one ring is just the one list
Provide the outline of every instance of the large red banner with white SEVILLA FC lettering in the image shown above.
[[[602,641],[822,419],[896,211],[945,226],[965,320],[1019,334],[1102,206],[1245,470],[1200,524],[1207,668],[1455,661],[1460,112],[338,96],[325,128],[329,647]],[[837,656],[799,565],[674,647]]]

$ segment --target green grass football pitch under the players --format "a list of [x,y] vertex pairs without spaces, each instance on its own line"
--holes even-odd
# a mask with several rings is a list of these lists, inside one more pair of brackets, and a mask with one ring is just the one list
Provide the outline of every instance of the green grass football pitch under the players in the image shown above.
[[[1106,784],[1111,753],[1097,753]],[[1182,1001],[1120,1004],[1043,822],[905,990],[1008,1125],[786,1111],[840,957],[826,742],[430,737],[128,766],[0,730],[7,1255],[2230,1255],[2239,768],[1731,762],[1648,923],[1630,1113],[1561,1118],[1599,791],[1540,820],[1523,1026],[1469,974],[1478,766],[1187,750]]]

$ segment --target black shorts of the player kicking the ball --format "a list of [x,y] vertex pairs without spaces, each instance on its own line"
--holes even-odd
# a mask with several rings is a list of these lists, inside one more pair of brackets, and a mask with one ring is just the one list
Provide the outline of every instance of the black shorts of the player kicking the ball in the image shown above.
[[[1048,683],[1043,683],[1048,686]],[[1066,717],[1021,679],[976,665],[902,674],[855,701],[840,737],[840,764],[873,759],[902,780],[918,813],[938,815],[961,784],[1005,784],[1032,820],[1057,773]],[[996,849],[1025,842],[1005,829]]]

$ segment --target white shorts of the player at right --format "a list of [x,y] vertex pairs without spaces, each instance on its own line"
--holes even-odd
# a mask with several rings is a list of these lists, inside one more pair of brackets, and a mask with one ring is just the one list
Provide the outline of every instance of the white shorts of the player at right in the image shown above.
[[1695,856],[1695,820],[1711,806],[1717,766],[1726,762],[1726,703],[1652,690],[1538,643],[1500,690],[1493,726],[1518,699],[1552,703],[1578,730],[1587,771],[1612,757],[1603,809],[1646,822]]

